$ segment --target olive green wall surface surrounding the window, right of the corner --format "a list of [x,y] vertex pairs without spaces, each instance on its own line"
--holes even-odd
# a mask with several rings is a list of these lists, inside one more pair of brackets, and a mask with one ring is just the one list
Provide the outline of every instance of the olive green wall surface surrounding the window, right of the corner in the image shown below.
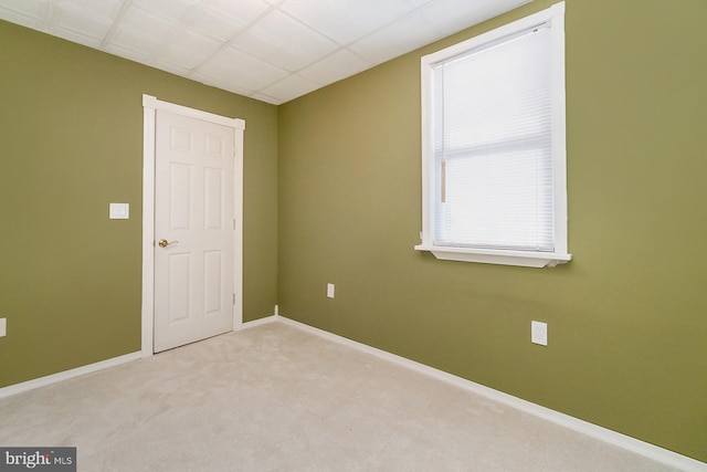
[[413,250],[420,56],[551,3],[279,107],[279,311],[707,461],[707,2],[567,0],[571,263]]

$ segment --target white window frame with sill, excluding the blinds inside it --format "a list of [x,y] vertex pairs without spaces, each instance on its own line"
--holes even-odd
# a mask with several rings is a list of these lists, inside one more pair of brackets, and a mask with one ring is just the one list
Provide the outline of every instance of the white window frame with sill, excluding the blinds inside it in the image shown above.
[[[435,245],[434,243],[434,66],[447,59],[463,54],[502,38],[549,23],[552,38],[552,168],[553,168],[553,217],[555,250],[520,251],[503,249],[478,249],[466,247]],[[528,268],[553,268],[569,262],[567,229],[567,149],[564,111],[564,2],[525,17],[495,30],[479,34],[421,59],[422,98],[422,231],[418,251],[429,251],[435,258],[451,261],[479,262],[487,264],[520,265]]]

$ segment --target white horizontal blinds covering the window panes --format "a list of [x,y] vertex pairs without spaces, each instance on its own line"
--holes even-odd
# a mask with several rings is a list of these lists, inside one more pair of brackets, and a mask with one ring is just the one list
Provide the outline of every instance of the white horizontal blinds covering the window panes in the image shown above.
[[555,251],[549,23],[434,65],[434,244]]

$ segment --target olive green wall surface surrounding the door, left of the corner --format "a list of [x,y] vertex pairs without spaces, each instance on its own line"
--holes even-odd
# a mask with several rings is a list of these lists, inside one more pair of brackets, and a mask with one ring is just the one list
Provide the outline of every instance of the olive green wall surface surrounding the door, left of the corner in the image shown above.
[[243,317],[273,312],[277,107],[0,21],[0,387],[140,350],[143,94],[246,120]]

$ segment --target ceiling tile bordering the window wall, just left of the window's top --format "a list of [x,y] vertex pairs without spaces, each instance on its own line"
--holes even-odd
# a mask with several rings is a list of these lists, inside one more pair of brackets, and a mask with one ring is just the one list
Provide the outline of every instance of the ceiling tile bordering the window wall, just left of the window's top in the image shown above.
[[367,61],[380,64],[440,39],[419,12],[408,14],[400,21],[351,44],[351,49]]

